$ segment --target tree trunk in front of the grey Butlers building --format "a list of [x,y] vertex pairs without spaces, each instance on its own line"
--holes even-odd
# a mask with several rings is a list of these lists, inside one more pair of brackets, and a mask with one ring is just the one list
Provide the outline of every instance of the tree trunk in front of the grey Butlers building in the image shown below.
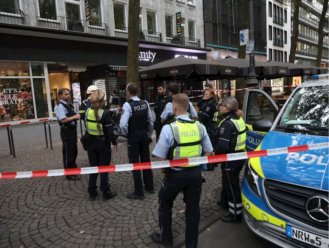
[[139,0],[129,0],[128,16],[127,84],[130,82],[137,84],[139,68]]

